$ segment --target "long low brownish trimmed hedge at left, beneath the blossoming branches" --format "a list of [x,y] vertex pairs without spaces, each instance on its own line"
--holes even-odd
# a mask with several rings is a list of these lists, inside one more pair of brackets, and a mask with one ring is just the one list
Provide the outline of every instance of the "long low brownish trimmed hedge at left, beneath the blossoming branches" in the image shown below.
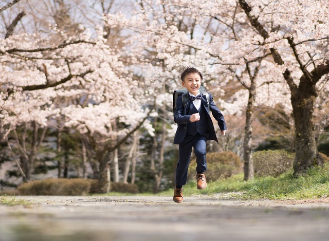
[[91,182],[88,179],[44,179],[22,184],[17,190],[21,195],[86,195]]

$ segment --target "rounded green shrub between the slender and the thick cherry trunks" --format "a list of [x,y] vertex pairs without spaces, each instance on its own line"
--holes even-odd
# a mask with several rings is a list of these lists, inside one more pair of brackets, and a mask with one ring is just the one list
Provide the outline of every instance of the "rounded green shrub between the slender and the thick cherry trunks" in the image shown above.
[[278,177],[293,167],[295,154],[284,150],[259,151],[252,154],[254,175]]

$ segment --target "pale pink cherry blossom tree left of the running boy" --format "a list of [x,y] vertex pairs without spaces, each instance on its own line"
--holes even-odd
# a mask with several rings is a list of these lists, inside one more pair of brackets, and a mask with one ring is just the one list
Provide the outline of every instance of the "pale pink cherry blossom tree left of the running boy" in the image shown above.
[[[80,25],[71,36],[50,27],[49,35],[11,34],[0,40],[2,139],[24,123],[59,127],[57,120],[64,119],[95,147],[103,183],[109,153],[142,125],[152,132],[146,121],[150,110],[143,108],[138,98],[143,90],[106,44],[102,28],[92,35]],[[117,123],[121,126],[114,128]],[[33,150],[21,148],[19,166],[27,166],[21,168],[26,180],[31,180]]]

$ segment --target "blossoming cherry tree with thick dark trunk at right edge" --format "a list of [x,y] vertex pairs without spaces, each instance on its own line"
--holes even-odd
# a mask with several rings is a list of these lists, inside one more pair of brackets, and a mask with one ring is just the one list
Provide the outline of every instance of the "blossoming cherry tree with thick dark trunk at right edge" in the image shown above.
[[[318,87],[329,72],[329,22],[326,1],[239,0],[250,25],[263,38],[289,86],[295,120],[294,174],[321,165],[315,141],[313,113]],[[281,11],[280,11],[281,10]],[[293,16],[293,19],[291,19]],[[276,31],[273,31],[276,29]]]

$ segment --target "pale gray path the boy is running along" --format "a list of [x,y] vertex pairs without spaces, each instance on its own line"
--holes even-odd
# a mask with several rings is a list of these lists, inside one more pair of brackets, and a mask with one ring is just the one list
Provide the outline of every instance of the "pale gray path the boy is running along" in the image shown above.
[[17,196],[0,205],[0,241],[329,240],[329,203],[216,196]]

